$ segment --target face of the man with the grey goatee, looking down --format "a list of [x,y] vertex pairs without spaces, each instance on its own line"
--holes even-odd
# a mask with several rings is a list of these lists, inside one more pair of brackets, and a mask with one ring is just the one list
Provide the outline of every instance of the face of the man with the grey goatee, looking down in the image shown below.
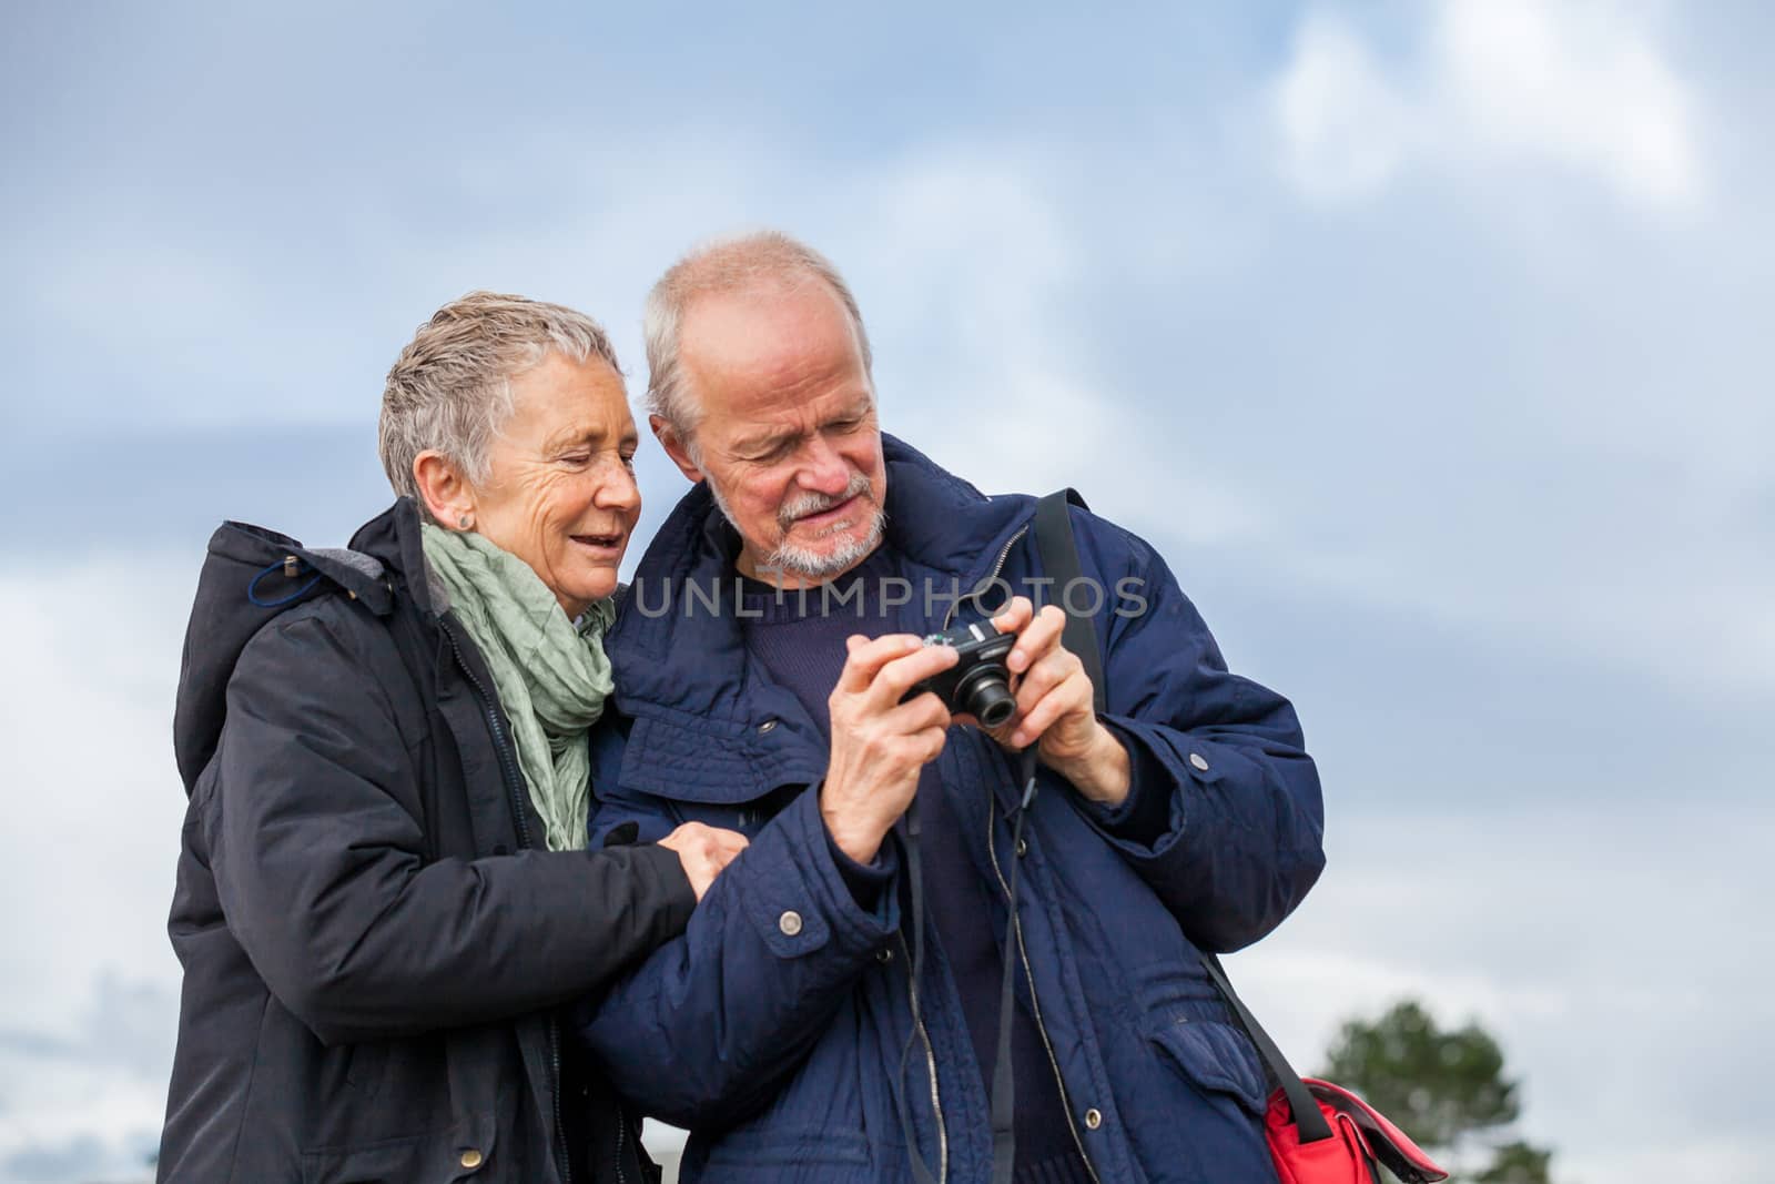
[[888,497],[880,426],[838,296],[820,282],[703,296],[680,343],[703,415],[694,456],[664,422],[653,430],[687,478],[708,479],[744,540],[740,572],[799,588],[875,550]]

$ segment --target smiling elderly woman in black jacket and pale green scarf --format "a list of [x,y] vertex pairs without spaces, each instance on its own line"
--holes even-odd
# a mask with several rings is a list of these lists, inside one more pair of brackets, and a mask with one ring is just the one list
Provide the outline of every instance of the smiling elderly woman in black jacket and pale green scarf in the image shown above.
[[399,499],[351,550],[217,533],[162,1180],[644,1179],[552,1008],[678,934],[744,840],[586,850],[634,453],[598,325],[476,293],[389,373]]

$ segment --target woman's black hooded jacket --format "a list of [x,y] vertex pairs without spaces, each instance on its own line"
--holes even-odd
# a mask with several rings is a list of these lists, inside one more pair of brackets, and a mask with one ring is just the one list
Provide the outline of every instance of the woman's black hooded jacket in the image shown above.
[[541,850],[493,682],[433,607],[412,502],[355,556],[300,552],[314,588],[254,621],[236,660],[209,644],[204,596],[247,596],[211,568],[250,572],[264,538],[217,533],[186,639],[160,1179],[641,1184],[634,1124],[563,1062],[552,1008],[683,928],[678,857]]

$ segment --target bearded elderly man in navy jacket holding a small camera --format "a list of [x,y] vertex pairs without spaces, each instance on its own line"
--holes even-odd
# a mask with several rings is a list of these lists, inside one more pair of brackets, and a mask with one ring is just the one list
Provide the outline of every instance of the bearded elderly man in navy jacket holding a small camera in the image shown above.
[[[1227,671],[1147,543],[1076,509],[1106,593],[1079,596],[1093,710],[1063,614],[1006,598],[1042,586],[1035,501],[880,431],[856,300],[811,249],[690,254],[646,337],[651,428],[696,488],[607,643],[593,834],[751,845],[580,1030],[690,1129],[683,1179],[987,1180],[1003,1067],[1017,1180],[1273,1180],[1262,1072],[1200,951],[1267,934],[1322,868],[1289,703]],[[1017,635],[990,735],[914,694],[957,660],[919,637],[989,618]]]

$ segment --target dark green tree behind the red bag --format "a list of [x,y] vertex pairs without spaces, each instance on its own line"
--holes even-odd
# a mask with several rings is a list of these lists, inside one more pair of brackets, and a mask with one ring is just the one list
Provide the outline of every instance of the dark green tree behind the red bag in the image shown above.
[[1416,999],[1400,999],[1379,1019],[1345,1021],[1328,1058],[1321,1077],[1361,1093],[1454,1180],[1550,1184],[1553,1154],[1505,1138],[1521,1113],[1519,1081],[1479,1024],[1445,1031]]

